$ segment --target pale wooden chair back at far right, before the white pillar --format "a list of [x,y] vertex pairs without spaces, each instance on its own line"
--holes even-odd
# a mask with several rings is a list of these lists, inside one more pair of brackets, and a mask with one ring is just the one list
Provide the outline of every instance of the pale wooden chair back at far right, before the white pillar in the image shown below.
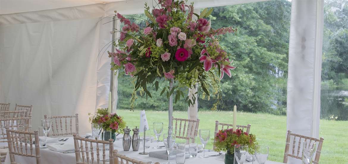
[[[290,140],[291,140],[292,136],[293,136],[292,151],[290,151]],[[316,146],[317,150],[316,150],[316,153],[315,153],[315,158],[314,158],[314,160],[312,162],[314,164],[318,164],[319,158],[320,158],[320,154],[321,154],[321,151],[322,151],[324,138],[320,137],[320,139],[316,139],[316,138],[313,138],[313,137],[308,137],[308,136],[304,136],[304,135],[294,134],[294,133],[291,133],[291,131],[287,131],[283,163],[287,163],[288,157],[302,159],[302,148],[303,148],[303,145],[301,144],[301,141],[308,141],[308,140],[309,140],[310,143],[313,143],[313,142],[317,143],[317,146]],[[297,147],[296,147],[296,144],[297,144]],[[295,150],[295,149],[297,149],[297,150]]]

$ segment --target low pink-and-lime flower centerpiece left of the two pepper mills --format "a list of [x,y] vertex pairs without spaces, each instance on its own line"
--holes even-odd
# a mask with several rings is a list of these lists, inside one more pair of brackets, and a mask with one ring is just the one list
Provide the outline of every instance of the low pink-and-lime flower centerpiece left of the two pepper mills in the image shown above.
[[[88,113],[88,115],[92,115]],[[116,134],[123,133],[126,122],[116,113],[109,113],[108,109],[97,109],[95,115],[89,117],[91,123],[101,123],[104,131],[111,131],[111,138],[116,141]]]

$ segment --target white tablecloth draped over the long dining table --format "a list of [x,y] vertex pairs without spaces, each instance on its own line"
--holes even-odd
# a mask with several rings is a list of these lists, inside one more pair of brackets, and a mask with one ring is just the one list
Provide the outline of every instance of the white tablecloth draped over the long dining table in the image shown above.
[[[118,136],[119,137],[119,136]],[[69,138],[67,141],[63,141],[61,143],[73,143],[73,138]],[[54,144],[54,143],[53,143]],[[163,145],[163,142],[160,143],[160,145]],[[151,151],[159,151],[159,150],[165,150],[163,149],[152,149],[152,147],[156,146],[156,143],[151,143],[151,147],[145,149],[146,152],[151,152]],[[134,158],[137,160],[141,160],[143,162],[149,162],[151,161],[152,163],[159,162],[159,163],[165,163],[167,160],[163,159],[158,159],[158,158],[153,158],[149,157],[149,155],[140,155],[139,152],[143,150],[143,147],[140,146],[139,151],[132,151],[132,147],[130,147],[130,151],[123,151],[122,148],[122,139],[118,139],[117,141],[114,142],[114,149],[119,150],[118,153],[122,155],[126,155],[130,158]],[[94,153],[96,154],[96,153]],[[203,153],[198,153],[198,156]],[[214,151],[211,152],[205,152],[206,155],[215,155],[217,154]],[[61,152],[55,152],[49,149],[40,149],[40,155],[41,155],[41,163],[43,164],[74,164],[76,163],[76,158],[75,158],[75,153],[69,153],[69,154],[63,154]],[[100,157],[102,158],[102,152]],[[22,157],[22,156],[15,156],[16,162],[22,163],[22,164],[36,164],[35,158],[31,157]],[[224,164],[223,161],[217,160],[219,157],[209,157],[209,158],[188,158],[186,159],[185,163],[187,164]],[[221,157],[220,157],[221,158]],[[107,151],[106,158],[109,159],[109,151]],[[175,164],[175,159],[171,160],[172,164]],[[10,158],[9,158],[9,153],[6,155],[5,159],[5,164],[10,164]],[[244,164],[251,164],[251,162],[245,162]],[[267,161],[266,164],[281,164],[278,162],[272,162],[272,161]]]

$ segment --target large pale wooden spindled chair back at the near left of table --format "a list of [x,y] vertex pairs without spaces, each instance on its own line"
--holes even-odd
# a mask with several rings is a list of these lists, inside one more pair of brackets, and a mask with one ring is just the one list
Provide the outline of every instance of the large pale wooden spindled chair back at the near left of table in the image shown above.
[[[18,131],[15,129],[9,129],[6,127],[8,151],[10,154],[10,162],[16,163],[15,155],[24,157],[36,158],[36,163],[40,164],[40,143],[39,132]],[[33,140],[35,142],[33,142]],[[33,143],[35,147],[33,148]],[[29,144],[29,145],[28,145]],[[33,151],[35,149],[35,152]]]

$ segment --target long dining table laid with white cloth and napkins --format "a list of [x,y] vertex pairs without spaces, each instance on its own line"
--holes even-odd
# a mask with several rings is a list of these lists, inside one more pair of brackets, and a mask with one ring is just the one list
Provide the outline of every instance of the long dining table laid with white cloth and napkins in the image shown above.
[[[88,134],[87,134],[88,135]],[[125,155],[129,158],[133,158],[136,160],[140,160],[142,162],[159,162],[160,164],[168,162],[168,160],[164,159],[159,159],[159,158],[154,158],[150,157],[149,155],[140,155],[139,152],[143,151],[143,146],[140,144],[139,151],[133,151],[132,147],[130,147],[129,151],[124,151],[122,147],[122,135],[117,136],[116,141],[113,144],[114,150],[118,150],[118,154]],[[68,139],[66,139],[68,138]],[[66,139],[66,141],[56,141],[53,143],[47,143],[47,147],[52,147],[59,145],[60,150],[64,150],[65,152],[68,149],[74,150],[73,145],[74,145],[74,139],[73,137],[65,137],[63,139]],[[6,143],[6,142],[5,142]],[[140,142],[143,143],[143,142]],[[3,143],[1,143],[3,144]],[[54,144],[54,145],[53,145]],[[150,142],[150,147],[145,148],[146,152],[152,152],[152,151],[160,151],[160,150],[166,150],[165,147],[162,147],[162,149],[155,149],[153,147],[156,147],[157,143],[156,142]],[[163,142],[159,142],[159,146],[164,146]],[[66,147],[66,148],[65,148]],[[35,149],[33,149],[35,150]],[[57,149],[59,150],[59,149]],[[76,157],[74,151],[71,151],[70,153],[63,153],[64,151],[54,151],[51,148],[41,148],[40,149],[40,159],[42,164],[75,164],[76,163]],[[109,159],[109,151],[106,152],[106,159]],[[102,154],[102,153],[101,153]],[[219,153],[214,152],[214,151],[206,151],[205,155],[217,155]],[[96,155],[96,153],[94,153]],[[223,161],[223,156],[214,156],[214,157],[209,157],[209,158],[199,158],[198,156],[203,155],[203,152],[198,153],[196,157],[190,157],[185,159],[186,164],[224,164]],[[100,155],[102,158],[102,155]],[[18,156],[15,155],[16,162],[22,163],[22,164],[36,164],[36,159],[33,157],[24,157],[24,156]],[[96,157],[95,157],[96,159]],[[175,159],[170,160],[171,164],[176,164]],[[95,161],[96,163],[96,161]],[[103,162],[101,162],[103,163]],[[108,163],[108,162],[106,162]],[[254,162],[256,163],[256,162]],[[7,152],[6,159],[5,159],[5,164],[10,164],[10,157],[9,157],[9,152]],[[252,162],[244,162],[244,164],[252,164]],[[282,164],[279,162],[273,162],[273,161],[267,161],[266,164]]]

